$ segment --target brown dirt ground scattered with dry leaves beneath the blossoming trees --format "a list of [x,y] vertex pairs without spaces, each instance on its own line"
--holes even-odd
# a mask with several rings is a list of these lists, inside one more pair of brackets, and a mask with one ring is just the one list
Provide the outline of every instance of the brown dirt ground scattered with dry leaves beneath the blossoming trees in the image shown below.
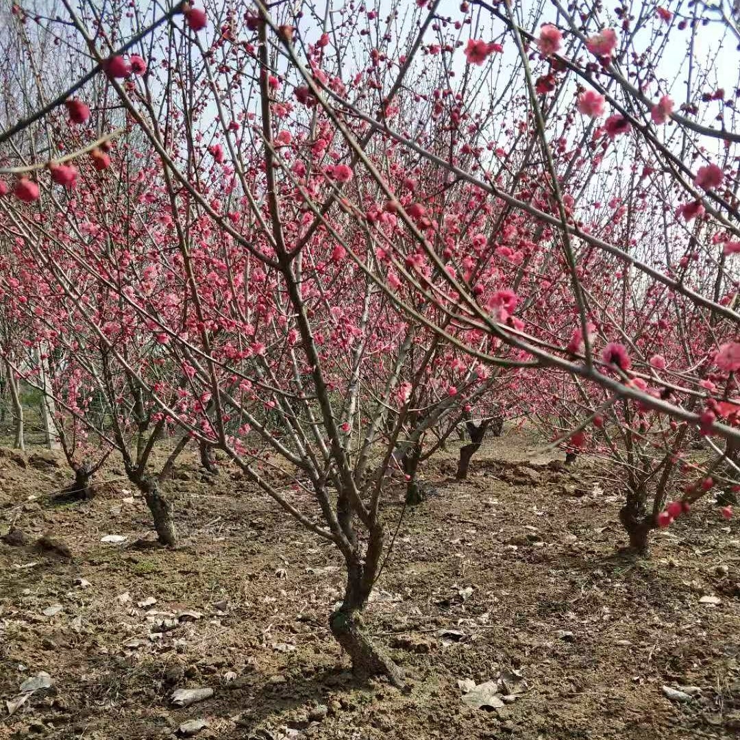
[[[445,456],[425,468],[436,491],[405,511],[367,613],[408,691],[354,682],[327,628],[337,552],[228,469],[178,468],[182,544],[167,551],[136,545],[149,514],[124,480],[55,507],[64,468],[3,451],[0,534],[28,539],[0,542],[0,739],[171,738],[193,719],[208,723],[199,739],[223,740],[738,736],[737,522],[707,501],[653,538],[650,559],[625,559],[619,492],[586,461],[517,465],[547,462],[530,442],[486,443],[467,482]],[[402,510],[389,490],[389,536]],[[35,548],[47,531],[71,559]],[[53,685],[9,716],[39,671]],[[503,707],[462,702],[458,682],[502,671],[518,691]],[[664,686],[698,689],[676,702]],[[213,696],[172,706],[173,690],[201,687]]]

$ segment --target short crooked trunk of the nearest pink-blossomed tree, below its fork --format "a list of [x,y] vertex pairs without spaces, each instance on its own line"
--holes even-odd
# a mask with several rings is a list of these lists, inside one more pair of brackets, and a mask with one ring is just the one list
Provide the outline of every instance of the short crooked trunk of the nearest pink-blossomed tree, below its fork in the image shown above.
[[361,568],[349,566],[344,601],[329,616],[329,629],[349,655],[352,673],[358,679],[387,676],[391,684],[400,688],[403,686],[403,671],[382,647],[375,645],[363,632],[362,611],[368,597],[369,591],[363,587]]

